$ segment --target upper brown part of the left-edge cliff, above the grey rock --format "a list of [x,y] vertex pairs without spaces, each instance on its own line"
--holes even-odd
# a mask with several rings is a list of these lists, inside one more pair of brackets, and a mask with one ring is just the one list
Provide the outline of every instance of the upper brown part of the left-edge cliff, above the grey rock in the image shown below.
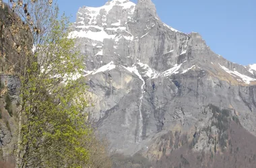
[[[22,56],[24,50],[20,53],[16,50],[18,45],[26,44],[27,48],[32,48],[31,32],[20,29],[18,33],[13,31],[11,27],[14,25],[22,25],[19,16],[9,9],[9,5],[5,4],[4,9],[0,9],[0,73],[12,75],[20,73],[22,69]],[[20,28],[20,27],[19,27]],[[13,36],[19,37],[13,40]],[[14,45],[17,44],[17,45]]]

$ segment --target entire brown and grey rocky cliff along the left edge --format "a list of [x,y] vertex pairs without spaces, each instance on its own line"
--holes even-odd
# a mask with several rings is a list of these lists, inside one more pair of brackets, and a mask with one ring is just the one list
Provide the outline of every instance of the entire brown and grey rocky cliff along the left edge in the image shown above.
[[[11,19],[8,19],[11,17]],[[18,24],[18,15],[13,13],[8,5],[0,9],[0,164],[2,159],[8,163],[14,163],[13,153],[17,137],[17,111],[20,96],[20,79],[15,75],[22,67],[22,51],[17,52],[11,38],[11,30],[8,26]],[[3,26],[4,25],[4,26]],[[20,31],[15,34],[18,42],[28,42],[31,36],[28,32]],[[23,38],[26,36],[26,38]],[[9,166],[9,167],[12,167]]]

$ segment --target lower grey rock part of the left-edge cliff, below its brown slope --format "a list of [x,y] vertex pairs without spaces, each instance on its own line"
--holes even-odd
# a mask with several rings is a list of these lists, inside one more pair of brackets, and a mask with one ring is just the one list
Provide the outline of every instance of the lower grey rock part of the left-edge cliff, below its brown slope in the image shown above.
[[0,82],[0,161],[14,163],[20,80],[13,75],[0,75]]

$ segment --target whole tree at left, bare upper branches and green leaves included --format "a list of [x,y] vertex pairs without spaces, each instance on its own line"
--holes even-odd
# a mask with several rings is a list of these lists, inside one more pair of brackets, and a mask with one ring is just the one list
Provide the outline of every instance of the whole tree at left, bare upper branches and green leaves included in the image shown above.
[[110,167],[84,112],[84,67],[68,18],[58,19],[51,0],[10,0],[5,11],[10,22],[0,20],[0,33],[10,37],[2,50],[19,56],[9,64],[22,83],[15,167]]

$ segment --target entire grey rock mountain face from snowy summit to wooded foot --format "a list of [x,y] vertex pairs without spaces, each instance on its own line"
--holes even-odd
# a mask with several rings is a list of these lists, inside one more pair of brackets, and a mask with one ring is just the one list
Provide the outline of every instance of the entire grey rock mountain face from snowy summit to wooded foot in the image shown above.
[[[111,151],[159,159],[163,154],[156,143],[168,132],[186,134],[193,151],[213,151],[230,126],[222,130],[226,120],[238,120],[256,135],[255,65],[232,63],[198,33],[164,24],[152,1],[81,7],[70,38],[87,56],[84,72],[94,103],[90,118],[110,140]],[[223,110],[228,111],[224,119]]]

